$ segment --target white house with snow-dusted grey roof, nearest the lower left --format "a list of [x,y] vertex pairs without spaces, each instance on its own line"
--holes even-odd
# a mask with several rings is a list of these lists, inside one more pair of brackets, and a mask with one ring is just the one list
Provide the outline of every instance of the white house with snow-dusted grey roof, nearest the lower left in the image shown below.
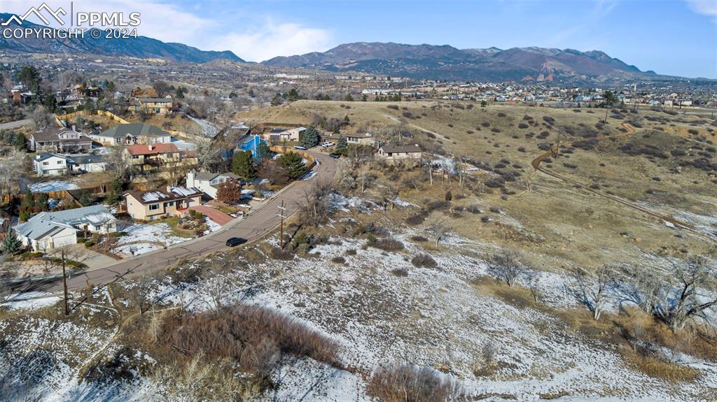
[[77,243],[77,231],[111,233],[117,231],[117,220],[104,205],[57,212],[40,212],[14,228],[23,245],[36,251],[47,251]]

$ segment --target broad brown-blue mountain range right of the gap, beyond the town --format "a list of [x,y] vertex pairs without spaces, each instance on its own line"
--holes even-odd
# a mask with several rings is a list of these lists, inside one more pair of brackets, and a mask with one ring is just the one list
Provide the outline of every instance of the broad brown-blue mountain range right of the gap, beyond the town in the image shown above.
[[448,45],[380,42],[342,44],[323,53],[275,57],[262,64],[448,80],[606,81],[655,75],[599,51],[541,47],[457,49]]

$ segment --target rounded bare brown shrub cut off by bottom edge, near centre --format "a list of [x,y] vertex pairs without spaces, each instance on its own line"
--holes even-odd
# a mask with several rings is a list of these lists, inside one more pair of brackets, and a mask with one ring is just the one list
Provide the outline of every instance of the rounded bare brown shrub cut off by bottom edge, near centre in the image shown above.
[[379,368],[366,391],[381,402],[447,402],[464,394],[452,378],[429,367],[407,365]]

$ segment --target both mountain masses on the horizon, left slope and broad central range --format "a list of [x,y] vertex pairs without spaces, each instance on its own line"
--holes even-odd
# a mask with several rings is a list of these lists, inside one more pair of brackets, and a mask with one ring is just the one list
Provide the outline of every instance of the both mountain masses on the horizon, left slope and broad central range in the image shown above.
[[[14,14],[0,14],[7,21]],[[9,28],[20,26],[11,21]],[[45,28],[23,21],[24,28]],[[159,58],[174,62],[205,63],[222,59],[244,62],[236,54],[207,52],[179,43],[166,43],[139,36],[132,39],[98,39],[85,34],[72,39],[6,39],[0,36],[0,49],[50,54],[96,54],[108,56]],[[341,44],[326,52],[290,57],[274,57],[262,62],[270,67],[321,69],[331,72],[363,72],[415,79],[453,81],[517,82],[617,82],[629,79],[675,79],[643,72],[622,60],[593,50],[522,47],[511,49],[457,49],[448,45],[356,42]]]

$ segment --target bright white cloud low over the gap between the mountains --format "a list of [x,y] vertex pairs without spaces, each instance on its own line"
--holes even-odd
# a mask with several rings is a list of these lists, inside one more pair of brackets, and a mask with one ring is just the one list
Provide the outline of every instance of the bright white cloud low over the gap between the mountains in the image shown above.
[[326,29],[267,20],[247,31],[217,35],[208,50],[231,50],[247,61],[262,62],[276,56],[324,51],[330,47],[331,37]]

